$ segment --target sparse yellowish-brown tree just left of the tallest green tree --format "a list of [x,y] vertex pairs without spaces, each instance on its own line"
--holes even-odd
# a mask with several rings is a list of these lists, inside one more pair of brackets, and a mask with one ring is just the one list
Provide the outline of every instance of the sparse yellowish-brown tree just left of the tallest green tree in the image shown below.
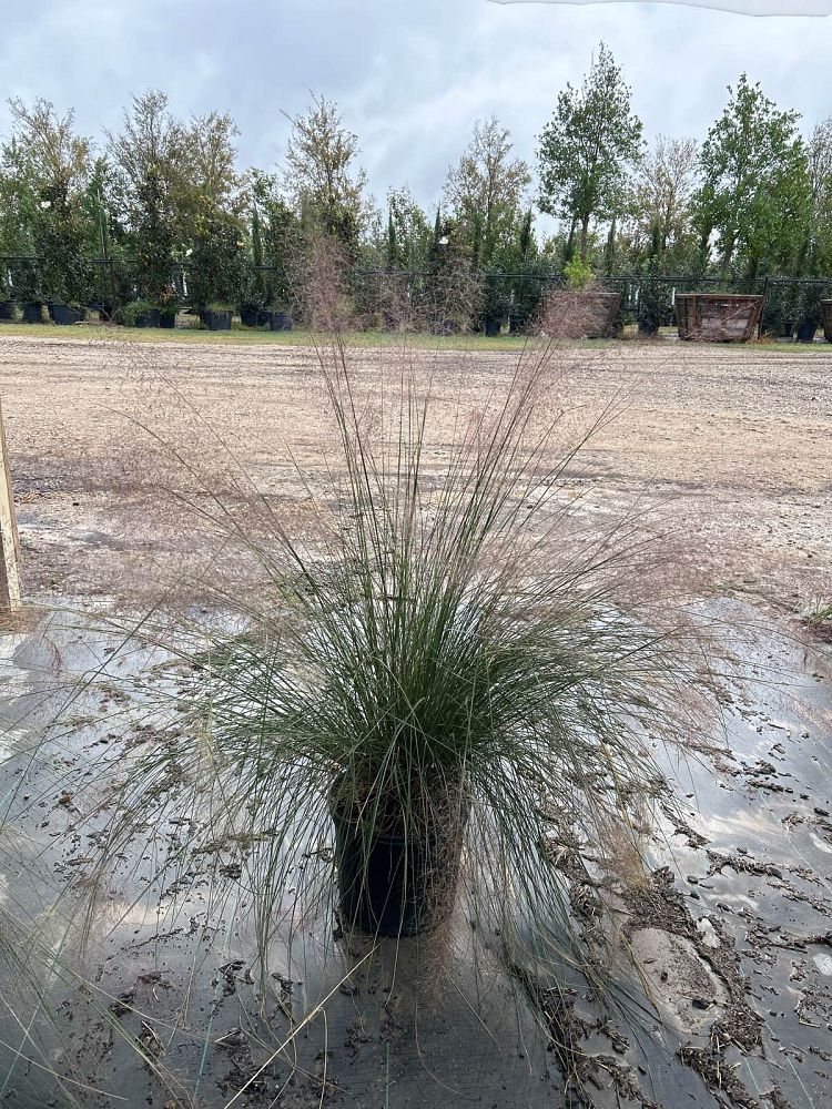
[[526,162],[511,157],[509,132],[494,115],[478,120],[463,156],[448,171],[444,201],[473,247],[476,243],[479,265],[516,240],[530,183]]

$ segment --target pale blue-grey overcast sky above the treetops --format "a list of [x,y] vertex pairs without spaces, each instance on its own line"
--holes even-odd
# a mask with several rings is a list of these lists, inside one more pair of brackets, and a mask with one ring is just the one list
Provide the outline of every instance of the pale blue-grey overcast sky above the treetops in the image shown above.
[[[706,2],[706,0],[701,0]],[[716,2],[716,0],[707,0]],[[726,0],[734,4],[753,0]],[[788,0],[758,0],[789,7]],[[832,7],[826,0],[791,0]],[[638,0],[579,6],[489,0],[39,0],[3,6],[4,96],[74,106],[82,132],[118,128],[134,92],[176,113],[216,108],[240,126],[241,164],[280,165],[310,92],[334,98],[361,140],[373,191],[408,184],[424,204],[475,119],[496,114],[518,154],[558,90],[605,40],[648,138],[701,139],[742,70],[810,131],[832,114],[832,17],[774,17]],[[8,113],[0,113],[0,130]]]

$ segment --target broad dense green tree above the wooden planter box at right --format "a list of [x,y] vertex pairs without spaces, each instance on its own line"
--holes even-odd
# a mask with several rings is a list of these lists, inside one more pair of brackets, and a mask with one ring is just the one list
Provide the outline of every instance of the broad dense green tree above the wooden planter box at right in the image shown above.
[[741,258],[787,272],[808,233],[809,162],[798,112],[781,111],[743,73],[708,132],[696,196],[703,240],[719,251],[727,276]]

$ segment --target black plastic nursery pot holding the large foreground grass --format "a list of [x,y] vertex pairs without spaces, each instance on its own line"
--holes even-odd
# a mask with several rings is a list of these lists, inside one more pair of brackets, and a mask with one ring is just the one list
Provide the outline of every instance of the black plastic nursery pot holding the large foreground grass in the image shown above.
[[456,889],[461,832],[367,834],[332,810],[342,924],[373,936],[415,936],[448,915]]

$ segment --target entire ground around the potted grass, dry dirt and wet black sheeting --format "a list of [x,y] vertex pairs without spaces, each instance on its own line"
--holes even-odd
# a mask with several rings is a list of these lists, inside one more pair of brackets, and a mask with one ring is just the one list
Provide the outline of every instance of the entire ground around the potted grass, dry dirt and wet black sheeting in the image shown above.
[[[505,386],[517,354],[412,355],[435,398],[428,469],[438,472],[455,429]],[[354,356],[362,388],[395,390],[402,352]],[[280,999],[266,1028],[252,937],[214,905],[209,864],[170,885],[163,867],[143,865],[179,843],[186,822],[175,808],[169,823],[149,821],[114,875],[119,924],[108,917],[87,968],[126,1034],[113,1039],[85,986],[54,1010],[58,1030],[70,1029],[73,1078],[116,1090],[129,1109],[219,1109],[235,1091],[241,1105],[297,1109],[324,1100],[345,1109],[832,1103],[829,648],[806,650],[782,634],[794,629],[795,610],[832,597],[832,346],[632,342],[567,345],[554,358],[541,418],[565,411],[565,448],[610,407],[617,413],[560,482],[577,518],[629,511],[641,522],[649,509],[643,526],[676,537],[671,571],[710,594],[713,622],[760,624],[753,640],[732,644],[743,681],[724,691],[707,757],[668,755],[679,806],[662,807],[649,877],[613,891],[638,980],[628,959],[613,977],[633,1005],[610,1015],[577,977],[555,990],[536,977],[531,944],[528,966],[513,965],[510,981],[503,969],[480,980],[471,937],[489,953],[501,940],[461,920],[450,1000],[424,1019],[398,948],[394,970],[379,958],[361,964],[348,988],[337,985],[354,953],[324,916],[300,950],[295,939],[277,945]],[[32,599],[148,604],[171,576],[216,550],[204,513],[219,503],[244,523],[241,513],[266,505],[293,535],[312,533],[298,471],[313,482],[325,474],[333,427],[311,348],[0,336],[0,397]],[[141,696],[134,729],[123,708],[125,691],[141,690],[131,682],[146,660],[133,659],[130,643],[111,654],[79,628],[59,613],[28,634],[0,637],[0,676],[13,694],[0,698],[0,763],[12,798],[3,823],[21,833],[6,846],[0,837],[0,889],[14,888],[33,916],[63,908],[65,891],[84,887],[90,844],[109,821],[98,775],[102,766],[120,773],[133,745],[153,737]],[[84,685],[67,730],[44,741],[45,722],[65,709],[58,679],[90,667],[102,682]],[[551,846],[576,916],[591,928],[597,878],[572,865],[566,841]],[[274,1052],[268,1037],[283,1037],[281,1021],[293,1027],[293,1007],[312,1011],[322,997],[325,1017],[304,1030],[296,1056],[294,1044]],[[9,1055],[23,1025],[0,1014],[4,1102],[57,1103],[49,1069],[24,1072],[21,1052]],[[48,1047],[53,1032],[49,1024]],[[163,1088],[149,1058],[162,1059],[175,1083]],[[89,1103],[113,1102],[98,1092]]]

